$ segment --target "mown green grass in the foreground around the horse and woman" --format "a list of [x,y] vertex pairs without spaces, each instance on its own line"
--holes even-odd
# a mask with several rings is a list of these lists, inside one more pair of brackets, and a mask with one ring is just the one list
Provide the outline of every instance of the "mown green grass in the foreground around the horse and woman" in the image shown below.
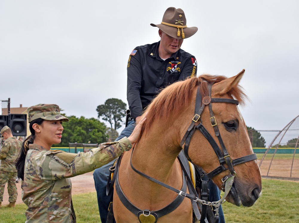
[[[223,210],[228,223],[292,223],[299,222],[298,181],[262,179],[262,196],[252,207],[237,207],[225,202]],[[78,223],[99,223],[96,193],[73,196]],[[24,223],[25,204],[0,209],[0,223]]]

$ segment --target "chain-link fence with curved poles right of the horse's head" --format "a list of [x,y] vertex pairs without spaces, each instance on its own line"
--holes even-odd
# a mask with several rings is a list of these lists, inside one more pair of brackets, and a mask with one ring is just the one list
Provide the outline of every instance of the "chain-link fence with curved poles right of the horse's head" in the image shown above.
[[281,131],[254,131],[248,134],[252,136],[261,175],[299,180],[299,115]]

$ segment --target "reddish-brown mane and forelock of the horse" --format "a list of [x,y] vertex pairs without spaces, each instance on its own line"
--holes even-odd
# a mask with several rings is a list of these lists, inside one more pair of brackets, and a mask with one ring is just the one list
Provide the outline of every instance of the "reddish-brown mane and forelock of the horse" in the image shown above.
[[[166,118],[170,113],[176,115],[181,108],[188,106],[190,103],[193,89],[200,84],[201,95],[208,95],[208,83],[218,83],[227,79],[225,76],[203,74],[199,77],[190,77],[184,81],[177,81],[164,88],[152,102],[147,106],[144,113],[147,112],[147,120],[142,126],[142,131],[147,132],[152,123],[157,118]],[[243,88],[240,85],[234,86],[229,92],[239,104],[244,104],[247,99]]]

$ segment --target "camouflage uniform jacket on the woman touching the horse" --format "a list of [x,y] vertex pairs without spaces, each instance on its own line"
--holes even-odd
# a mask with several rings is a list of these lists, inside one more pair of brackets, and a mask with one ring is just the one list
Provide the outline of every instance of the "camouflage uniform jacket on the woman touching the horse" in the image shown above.
[[22,199],[28,206],[27,222],[76,222],[71,198],[70,177],[109,163],[132,147],[125,137],[118,142],[102,143],[79,154],[46,150],[29,144],[25,161]]

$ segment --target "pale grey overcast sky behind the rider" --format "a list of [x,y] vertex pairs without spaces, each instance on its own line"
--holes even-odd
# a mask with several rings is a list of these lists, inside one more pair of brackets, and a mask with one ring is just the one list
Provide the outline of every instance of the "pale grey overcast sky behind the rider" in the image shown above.
[[[171,2],[171,3],[170,3]],[[299,114],[299,1],[0,0],[0,100],[58,104],[97,118],[108,98],[126,100],[126,65],[138,45],[159,41],[168,7],[198,27],[182,49],[197,75],[245,75],[247,126],[281,130]],[[122,130],[118,129],[118,132]]]

